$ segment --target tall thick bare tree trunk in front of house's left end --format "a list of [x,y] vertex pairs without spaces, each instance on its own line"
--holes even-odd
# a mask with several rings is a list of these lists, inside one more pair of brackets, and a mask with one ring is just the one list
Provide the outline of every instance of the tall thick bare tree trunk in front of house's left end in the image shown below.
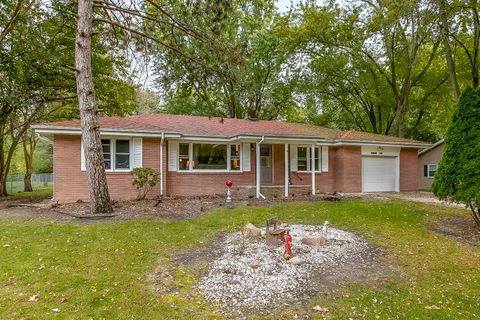
[[112,212],[92,78],[93,0],[78,1],[75,68],[91,213]]

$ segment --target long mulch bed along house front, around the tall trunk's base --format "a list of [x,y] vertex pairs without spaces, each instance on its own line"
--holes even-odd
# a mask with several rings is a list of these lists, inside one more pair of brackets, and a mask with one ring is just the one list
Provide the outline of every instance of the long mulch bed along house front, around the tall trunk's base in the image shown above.
[[[340,201],[341,196],[316,195],[294,198],[236,199],[233,206],[270,206],[296,201]],[[18,199],[0,201],[0,218],[44,217],[52,222],[62,223],[95,223],[100,221],[130,220],[138,217],[155,217],[170,220],[192,219],[217,208],[225,208],[227,204],[223,195],[196,197],[163,197],[142,201],[113,201],[114,212],[108,215],[91,215],[89,203],[83,201],[71,203],[52,203],[50,199]]]

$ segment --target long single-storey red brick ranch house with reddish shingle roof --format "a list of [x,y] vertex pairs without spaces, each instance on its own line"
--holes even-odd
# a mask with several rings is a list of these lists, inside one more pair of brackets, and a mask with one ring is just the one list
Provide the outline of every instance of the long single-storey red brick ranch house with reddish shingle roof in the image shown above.
[[[310,124],[178,115],[100,119],[113,199],[135,198],[131,170],[158,170],[155,195],[234,196],[413,191],[419,149],[409,139]],[[36,125],[53,141],[54,199],[88,199],[80,121]],[[312,152],[314,150],[314,152]],[[257,170],[258,169],[258,170]]]

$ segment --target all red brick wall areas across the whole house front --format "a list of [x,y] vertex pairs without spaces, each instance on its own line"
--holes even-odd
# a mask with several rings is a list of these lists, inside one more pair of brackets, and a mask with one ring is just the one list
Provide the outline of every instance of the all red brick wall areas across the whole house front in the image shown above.
[[[284,145],[274,145],[274,184],[284,184]],[[160,169],[160,139],[143,139],[143,166]],[[164,193],[166,195],[208,195],[225,192],[225,181],[232,180],[234,191],[248,190],[254,194],[255,150],[251,151],[251,171],[243,173],[204,173],[168,171],[167,143],[164,143]],[[85,172],[80,170],[80,137],[56,135],[54,137],[54,199],[60,201],[88,200]],[[417,150],[403,148],[400,153],[400,190],[417,190]],[[311,191],[310,173],[291,173],[291,183],[307,186]],[[360,192],[361,148],[329,147],[329,171],[317,173],[316,192]],[[301,179],[300,179],[301,178]],[[107,172],[112,199],[133,199],[136,191],[131,185],[130,173]],[[160,193],[160,186],[150,196]],[[240,193],[240,192],[238,192]]]

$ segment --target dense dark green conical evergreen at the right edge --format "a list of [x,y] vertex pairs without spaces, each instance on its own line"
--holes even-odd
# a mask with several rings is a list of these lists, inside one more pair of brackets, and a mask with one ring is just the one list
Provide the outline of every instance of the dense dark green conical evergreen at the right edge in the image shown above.
[[445,135],[445,151],[432,185],[440,199],[464,203],[480,227],[480,91],[460,96]]

